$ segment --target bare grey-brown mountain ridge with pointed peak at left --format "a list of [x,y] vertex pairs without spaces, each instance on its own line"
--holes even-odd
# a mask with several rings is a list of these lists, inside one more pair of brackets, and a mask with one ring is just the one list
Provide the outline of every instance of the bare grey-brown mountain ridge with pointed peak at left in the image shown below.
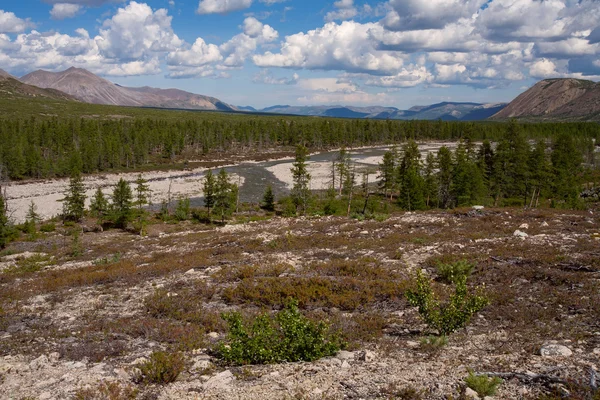
[[100,78],[85,69],[74,67],[62,72],[38,70],[23,76],[21,81],[42,88],[57,89],[92,104],[190,110],[236,110],[214,97],[178,89],[128,88]]

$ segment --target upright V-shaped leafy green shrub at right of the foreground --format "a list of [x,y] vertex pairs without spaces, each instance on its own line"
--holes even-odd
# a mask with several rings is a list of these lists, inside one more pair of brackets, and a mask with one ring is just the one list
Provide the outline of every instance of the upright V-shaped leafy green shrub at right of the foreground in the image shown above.
[[440,335],[448,335],[464,327],[473,314],[489,303],[481,293],[468,293],[466,276],[457,278],[455,286],[454,294],[448,301],[440,303],[433,293],[429,278],[419,271],[416,287],[406,292],[408,302],[419,307],[421,317],[431,328],[437,329]]

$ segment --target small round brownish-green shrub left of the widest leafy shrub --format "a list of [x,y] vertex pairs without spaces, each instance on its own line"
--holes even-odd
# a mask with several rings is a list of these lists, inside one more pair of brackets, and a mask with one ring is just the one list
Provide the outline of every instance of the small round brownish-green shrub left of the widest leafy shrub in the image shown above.
[[150,359],[138,364],[140,369],[138,382],[167,384],[175,382],[185,367],[185,358],[181,353],[155,351]]

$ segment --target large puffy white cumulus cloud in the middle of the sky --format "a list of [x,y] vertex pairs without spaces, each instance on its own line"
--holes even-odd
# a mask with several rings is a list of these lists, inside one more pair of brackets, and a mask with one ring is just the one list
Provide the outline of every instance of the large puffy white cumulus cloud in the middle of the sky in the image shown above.
[[279,53],[253,57],[261,67],[287,67],[349,72],[393,73],[403,59],[395,52],[378,51],[369,31],[377,24],[330,22],[308,33],[287,36]]

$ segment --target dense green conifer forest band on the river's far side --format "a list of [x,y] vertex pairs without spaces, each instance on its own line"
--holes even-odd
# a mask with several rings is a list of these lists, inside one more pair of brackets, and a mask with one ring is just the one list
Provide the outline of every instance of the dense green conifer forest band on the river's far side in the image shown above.
[[[527,138],[570,135],[584,154],[600,140],[595,123],[518,124]],[[406,140],[496,141],[506,123],[344,120],[292,117],[184,120],[0,119],[0,169],[10,179],[68,177],[200,159],[215,152],[260,151],[302,144],[311,151]]]

